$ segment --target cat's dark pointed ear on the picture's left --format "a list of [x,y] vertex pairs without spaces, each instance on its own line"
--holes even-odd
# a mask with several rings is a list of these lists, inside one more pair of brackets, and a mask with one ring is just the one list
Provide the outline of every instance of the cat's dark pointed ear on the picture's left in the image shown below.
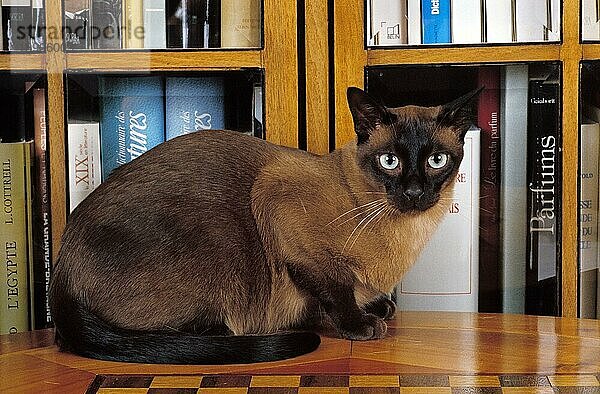
[[364,90],[350,87],[346,95],[359,144],[366,142],[377,126],[390,122],[390,113]]

